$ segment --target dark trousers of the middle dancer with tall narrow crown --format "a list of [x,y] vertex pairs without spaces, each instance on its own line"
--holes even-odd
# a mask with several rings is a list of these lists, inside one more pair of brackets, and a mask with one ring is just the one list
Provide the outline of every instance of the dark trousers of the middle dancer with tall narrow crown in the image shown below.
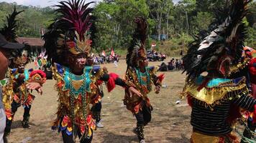
[[137,126],[146,126],[147,123],[151,121],[151,111],[152,107],[147,107],[144,102],[142,111],[140,110],[137,114],[135,114]]

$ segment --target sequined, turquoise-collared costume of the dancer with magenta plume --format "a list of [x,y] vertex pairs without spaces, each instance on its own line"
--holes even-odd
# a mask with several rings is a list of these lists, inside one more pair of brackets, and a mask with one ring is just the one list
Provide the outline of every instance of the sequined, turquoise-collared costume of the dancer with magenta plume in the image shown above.
[[[91,130],[96,129],[96,125],[90,104],[101,101],[99,81],[109,81],[109,74],[99,66],[86,66],[83,74],[77,76],[70,72],[68,67],[60,64],[55,64],[52,72],[57,81],[55,89],[58,91],[60,102],[53,127],[65,130],[68,135],[72,134],[74,129],[79,129],[81,134],[91,137]],[[110,83],[114,82],[113,80],[110,77]]]

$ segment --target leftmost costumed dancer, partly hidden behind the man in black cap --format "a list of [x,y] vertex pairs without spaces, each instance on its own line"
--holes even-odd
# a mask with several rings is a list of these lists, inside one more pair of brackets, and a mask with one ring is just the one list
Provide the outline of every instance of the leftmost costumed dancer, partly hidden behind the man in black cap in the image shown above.
[[[17,42],[16,39],[16,20],[15,17],[22,11],[17,12],[16,8],[12,14],[7,17],[8,24],[1,29],[8,41]],[[19,54],[19,55],[18,55]],[[11,132],[11,125],[14,114],[18,107],[24,107],[22,127],[29,127],[29,111],[35,97],[30,93],[32,89],[42,94],[42,84],[45,83],[45,73],[40,70],[24,69],[28,63],[27,51],[20,51],[14,56],[14,69],[9,69],[8,83],[3,87],[3,103],[6,112],[6,128],[4,139]]]

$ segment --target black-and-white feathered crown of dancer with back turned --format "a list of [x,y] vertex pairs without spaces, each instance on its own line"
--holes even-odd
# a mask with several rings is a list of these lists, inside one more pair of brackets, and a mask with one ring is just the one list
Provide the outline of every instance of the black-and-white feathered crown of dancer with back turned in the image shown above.
[[188,80],[195,79],[204,71],[223,74],[229,64],[236,64],[242,56],[246,28],[242,19],[247,14],[251,0],[232,0],[216,12],[216,21],[209,32],[196,36],[189,44],[188,54],[183,57]]

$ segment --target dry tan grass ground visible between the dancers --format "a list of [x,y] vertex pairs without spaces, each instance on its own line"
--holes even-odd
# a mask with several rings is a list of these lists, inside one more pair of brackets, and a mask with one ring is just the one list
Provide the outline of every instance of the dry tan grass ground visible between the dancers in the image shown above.
[[[160,62],[150,64],[157,66]],[[115,72],[120,76],[123,76],[126,69],[124,60],[119,62],[117,68],[114,64],[102,66],[106,66],[110,72]],[[165,72],[164,84],[167,87],[163,88],[160,94],[150,93],[149,97],[154,111],[152,122],[145,127],[146,142],[189,142],[191,109],[186,105],[177,107],[175,104],[183,88],[184,78],[185,75],[180,74],[180,71]],[[53,89],[54,83],[55,81],[52,80],[47,81],[43,87],[42,96],[37,95],[32,104],[29,129],[23,129],[21,126],[23,109],[19,108],[15,114],[9,142],[62,142],[61,134],[50,128],[58,106],[57,92]],[[93,142],[138,142],[137,136],[132,132],[136,119],[122,103],[124,97],[122,87],[116,87],[111,93],[107,93],[104,89],[104,93],[101,112],[104,128],[93,132]],[[186,101],[181,104],[186,104]]]

